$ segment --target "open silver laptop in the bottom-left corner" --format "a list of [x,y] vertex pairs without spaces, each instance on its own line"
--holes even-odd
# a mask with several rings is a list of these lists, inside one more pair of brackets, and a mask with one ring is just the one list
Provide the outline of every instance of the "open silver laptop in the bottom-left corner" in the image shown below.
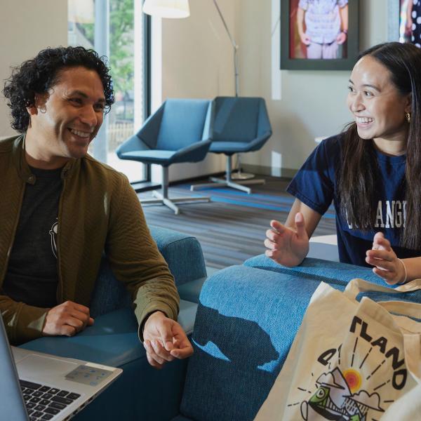
[[11,347],[0,316],[1,420],[69,420],[122,372]]

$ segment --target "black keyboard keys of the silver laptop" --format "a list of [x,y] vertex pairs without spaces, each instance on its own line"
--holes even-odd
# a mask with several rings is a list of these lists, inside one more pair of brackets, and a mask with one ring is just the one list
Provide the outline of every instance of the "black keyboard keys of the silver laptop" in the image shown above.
[[40,385],[39,383],[19,380],[29,420],[51,420],[60,410],[67,408],[81,395]]

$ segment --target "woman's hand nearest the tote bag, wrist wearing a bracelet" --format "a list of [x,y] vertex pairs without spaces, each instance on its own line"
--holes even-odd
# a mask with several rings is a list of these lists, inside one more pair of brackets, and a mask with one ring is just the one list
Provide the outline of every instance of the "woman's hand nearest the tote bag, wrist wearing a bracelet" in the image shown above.
[[373,239],[373,248],[366,252],[366,262],[373,265],[373,272],[385,279],[389,285],[402,282],[406,273],[402,262],[390,246],[389,240],[385,239],[382,232],[377,232]]

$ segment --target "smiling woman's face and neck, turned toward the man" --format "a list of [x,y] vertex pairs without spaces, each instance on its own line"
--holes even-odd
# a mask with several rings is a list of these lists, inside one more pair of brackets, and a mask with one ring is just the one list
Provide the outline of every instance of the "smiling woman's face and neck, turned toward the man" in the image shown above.
[[352,70],[347,105],[359,137],[406,142],[410,94],[402,95],[392,82],[392,74],[381,62],[365,55]]

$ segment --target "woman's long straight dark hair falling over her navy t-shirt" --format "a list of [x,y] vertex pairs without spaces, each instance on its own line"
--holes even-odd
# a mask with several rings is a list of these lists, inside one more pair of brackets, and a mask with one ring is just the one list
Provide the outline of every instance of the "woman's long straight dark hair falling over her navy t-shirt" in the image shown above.
[[[421,249],[421,51],[412,44],[390,42],[361,53],[378,60],[392,75],[402,95],[411,94],[412,103],[406,145],[406,225],[401,246]],[[339,170],[338,193],[342,215],[362,230],[375,229],[376,180],[380,176],[373,142],[361,139],[356,123],[346,128]]]

